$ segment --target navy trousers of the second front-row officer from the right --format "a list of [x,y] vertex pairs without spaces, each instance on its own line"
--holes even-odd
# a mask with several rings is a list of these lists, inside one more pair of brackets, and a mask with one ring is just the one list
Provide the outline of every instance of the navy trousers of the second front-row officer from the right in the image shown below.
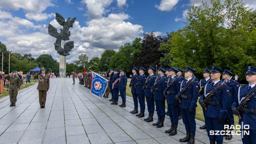
[[[182,118],[183,119],[183,118]],[[209,118],[206,116],[206,130],[210,141],[216,141],[217,144],[223,143],[223,135],[210,135],[210,130],[223,130],[223,123],[218,123],[217,118]]]

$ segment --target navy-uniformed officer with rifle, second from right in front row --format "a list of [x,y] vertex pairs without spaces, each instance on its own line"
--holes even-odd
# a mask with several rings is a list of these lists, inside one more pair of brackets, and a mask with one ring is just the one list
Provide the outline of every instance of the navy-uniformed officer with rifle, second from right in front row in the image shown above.
[[[207,105],[203,102],[206,98],[206,95],[210,93],[216,86],[221,83],[220,77],[223,70],[219,69],[216,66],[210,67],[211,80],[213,82],[206,84],[205,93],[199,98],[199,103],[201,107],[205,107],[207,111],[205,111],[206,116],[206,125],[207,125],[207,134],[210,139],[210,144],[214,144],[215,141],[218,143],[223,143],[223,135],[210,135],[210,131],[221,131],[223,130],[223,121],[227,115],[227,109],[230,103],[230,93],[229,86],[225,83],[222,87],[215,91],[214,95],[211,97],[210,102]],[[214,104],[213,104],[214,103]]]

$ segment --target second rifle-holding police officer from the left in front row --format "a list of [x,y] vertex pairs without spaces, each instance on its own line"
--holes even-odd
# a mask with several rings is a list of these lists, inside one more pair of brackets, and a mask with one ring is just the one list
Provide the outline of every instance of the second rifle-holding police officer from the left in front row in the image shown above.
[[139,69],[139,74],[140,76],[138,77],[138,82],[135,84],[136,86],[136,94],[138,95],[139,98],[139,107],[141,109],[140,113],[136,114],[137,117],[141,118],[141,117],[145,117],[145,97],[144,97],[144,90],[143,90],[143,86],[146,83],[146,79],[147,76],[145,75],[145,71],[146,69],[144,69],[143,67],[141,67]]

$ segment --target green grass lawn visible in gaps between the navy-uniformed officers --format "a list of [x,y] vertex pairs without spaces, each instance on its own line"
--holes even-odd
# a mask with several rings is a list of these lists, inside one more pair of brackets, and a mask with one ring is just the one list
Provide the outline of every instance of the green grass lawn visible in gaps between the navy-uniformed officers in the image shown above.
[[[131,88],[129,87],[129,84],[130,82],[127,82],[126,91],[128,91],[129,93],[126,93],[126,95],[129,97],[133,97],[133,95],[131,94]],[[145,98],[145,102],[146,102],[146,98]],[[165,108],[167,109],[167,103],[165,103]],[[203,122],[205,121],[205,118],[203,117],[203,109],[200,106],[199,102],[197,102],[195,118]],[[234,115],[235,125],[238,125],[238,120],[239,120],[238,116]]]

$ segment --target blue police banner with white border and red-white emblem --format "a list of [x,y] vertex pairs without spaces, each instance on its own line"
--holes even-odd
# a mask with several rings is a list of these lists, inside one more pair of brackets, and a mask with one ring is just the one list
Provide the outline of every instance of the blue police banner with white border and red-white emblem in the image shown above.
[[97,73],[92,72],[91,74],[91,95],[102,99],[107,89],[108,80],[101,77]]

